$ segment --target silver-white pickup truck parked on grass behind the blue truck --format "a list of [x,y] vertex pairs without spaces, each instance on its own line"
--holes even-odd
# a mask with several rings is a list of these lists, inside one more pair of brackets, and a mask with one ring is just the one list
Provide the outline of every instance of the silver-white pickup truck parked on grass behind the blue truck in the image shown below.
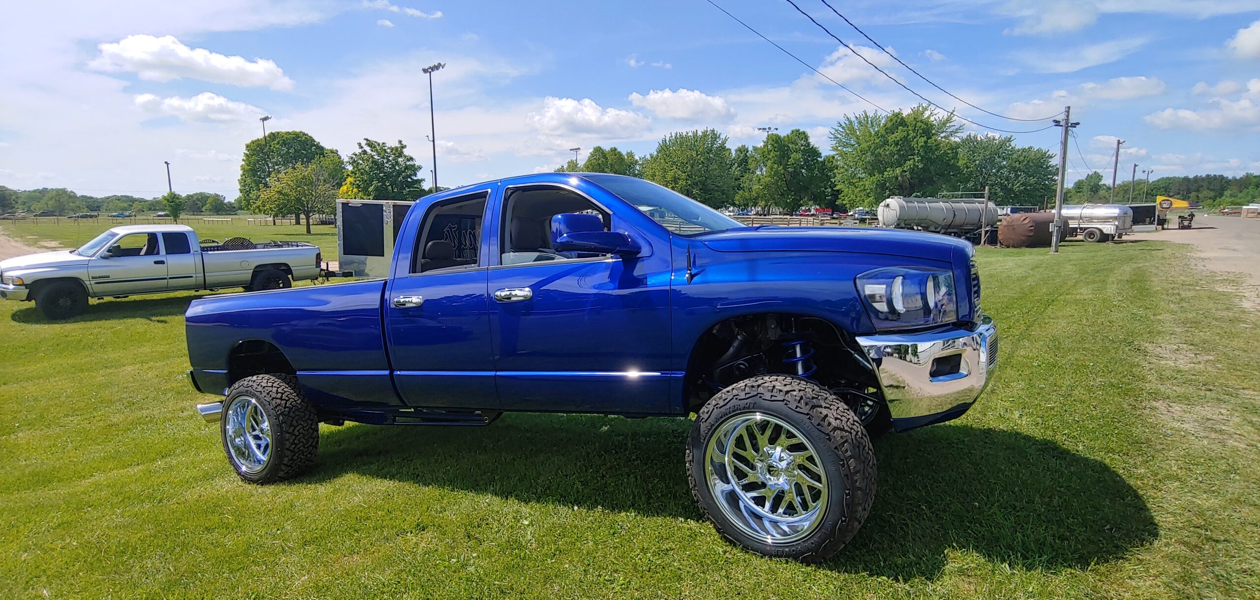
[[320,275],[320,249],[305,242],[203,244],[186,225],[125,225],[74,250],[0,260],[0,298],[35,301],[48,318],[69,318],[88,298],[180,289],[278,289]]

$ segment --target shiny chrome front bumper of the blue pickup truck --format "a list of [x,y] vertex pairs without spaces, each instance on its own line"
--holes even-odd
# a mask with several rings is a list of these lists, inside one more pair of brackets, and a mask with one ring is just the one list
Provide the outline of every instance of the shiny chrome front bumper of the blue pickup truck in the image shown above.
[[971,330],[857,338],[879,374],[898,431],[966,413],[998,366],[998,328],[988,316]]

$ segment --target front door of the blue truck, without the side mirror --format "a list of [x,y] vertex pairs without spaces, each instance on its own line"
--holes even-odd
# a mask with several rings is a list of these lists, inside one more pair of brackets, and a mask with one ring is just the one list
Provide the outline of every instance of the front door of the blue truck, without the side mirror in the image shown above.
[[[591,190],[596,194],[597,190]],[[495,381],[505,409],[592,413],[669,411],[668,252],[621,258],[558,253],[551,218],[605,205],[576,187],[509,186],[490,267]]]

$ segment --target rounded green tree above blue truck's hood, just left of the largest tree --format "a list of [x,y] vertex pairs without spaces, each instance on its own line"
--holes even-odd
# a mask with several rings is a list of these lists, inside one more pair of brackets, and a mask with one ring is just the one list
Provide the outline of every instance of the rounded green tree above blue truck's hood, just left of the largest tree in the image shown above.
[[757,204],[794,213],[825,200],[829,177],[823,171],[823,153],[805,131],[767,135],[761,146],[752,150],[752,196]]

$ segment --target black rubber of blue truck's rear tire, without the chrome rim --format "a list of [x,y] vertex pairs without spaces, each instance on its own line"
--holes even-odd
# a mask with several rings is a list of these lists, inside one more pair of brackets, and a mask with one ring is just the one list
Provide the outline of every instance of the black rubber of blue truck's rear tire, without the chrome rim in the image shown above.
[[[297,377],[284,374],[253,375],[237,381],[223,399],[219,436],[228,464],[248,483],[275,483],[301,474],[315,464],[319,453],[319,415],[310,400],[301,394]],[[271,425],[271,457],[257,473],[241,469],[228,448],[228,406],[234,397],[248,395],[258,401]]]

